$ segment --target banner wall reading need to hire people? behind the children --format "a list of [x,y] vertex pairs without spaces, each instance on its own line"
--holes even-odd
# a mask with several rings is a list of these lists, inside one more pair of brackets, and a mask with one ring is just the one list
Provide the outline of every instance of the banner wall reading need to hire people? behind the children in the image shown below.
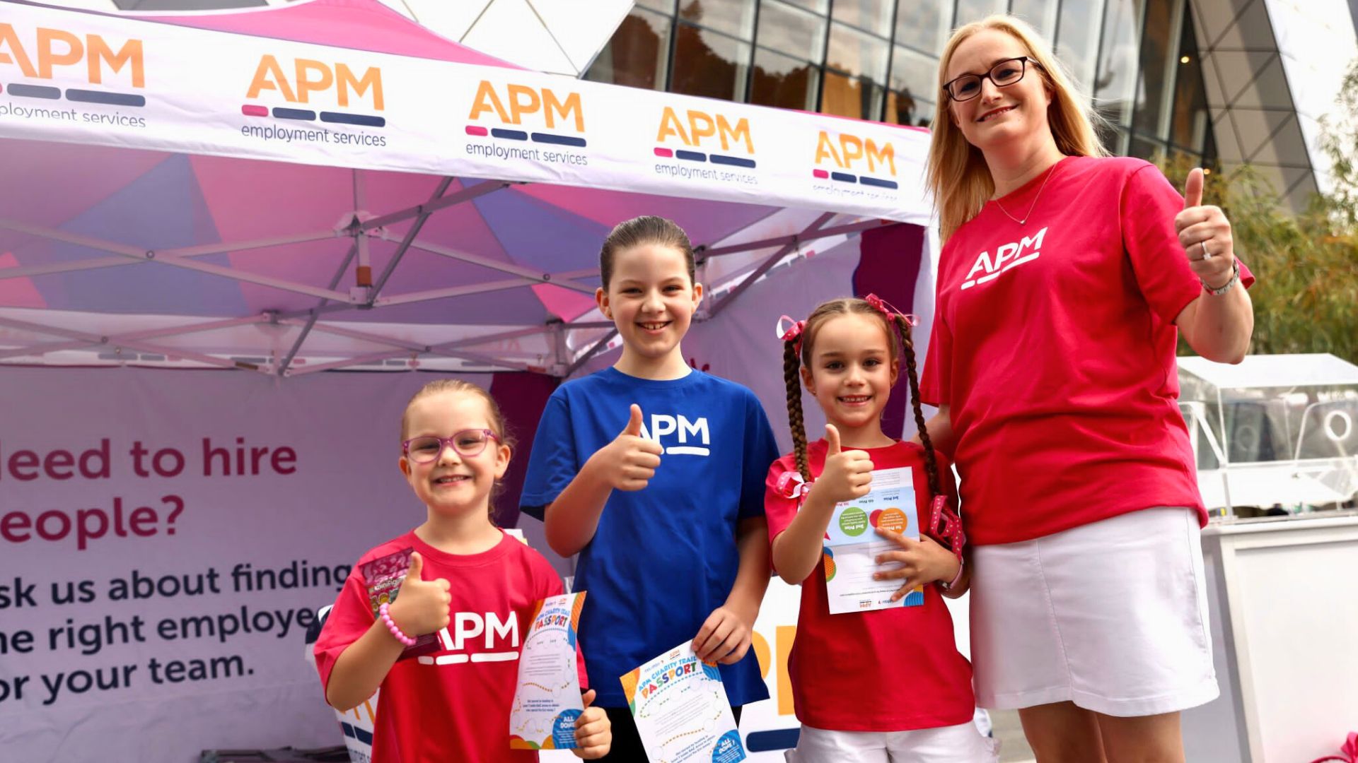
[[306,631],[425,519],[397,463],[432,377],[0,369],[0,758],[344,744]]

